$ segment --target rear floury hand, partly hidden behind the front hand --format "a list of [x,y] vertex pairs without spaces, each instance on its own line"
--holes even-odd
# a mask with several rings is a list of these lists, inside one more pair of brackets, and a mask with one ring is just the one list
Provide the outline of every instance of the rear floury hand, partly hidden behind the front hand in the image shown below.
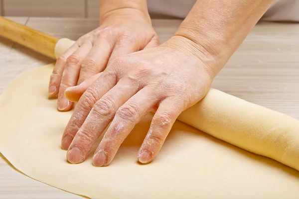
[[80,37],[57,59],[50,78],[49,95],[58,94],[59,110],[70,110],[72,102],[64,97],[67,88],[104,71],[109,60],[155,47],[158,43],[150,18],[142,11],[126,8],[106,13],[101,17],[99,28]]

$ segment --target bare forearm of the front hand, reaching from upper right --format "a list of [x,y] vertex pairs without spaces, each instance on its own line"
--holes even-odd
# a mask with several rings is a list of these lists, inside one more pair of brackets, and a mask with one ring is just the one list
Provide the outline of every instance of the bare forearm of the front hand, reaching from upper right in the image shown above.
[[197,0],[174,37],[186,43],[184,50],[203,60],[215,76],[272,1]]

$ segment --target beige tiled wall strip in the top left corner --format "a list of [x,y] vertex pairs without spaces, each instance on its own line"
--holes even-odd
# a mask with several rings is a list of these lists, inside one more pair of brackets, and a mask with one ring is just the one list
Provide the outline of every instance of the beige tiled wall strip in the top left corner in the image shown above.
[[99,0],[0,0],[2,16],[98,18]]

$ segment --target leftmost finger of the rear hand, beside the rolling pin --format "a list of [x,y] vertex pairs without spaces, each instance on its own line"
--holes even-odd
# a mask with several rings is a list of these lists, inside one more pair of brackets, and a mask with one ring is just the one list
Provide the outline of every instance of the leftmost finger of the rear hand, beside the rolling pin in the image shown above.
[[78,48],[79,45],[76,42],[57,58],[56,64],[54,66],[54,70],[50,77],[49,90],[48,90],[50,96],[56,96],[58,94],[66,59],[71,54],[73,54],[73,52],[75,52]]

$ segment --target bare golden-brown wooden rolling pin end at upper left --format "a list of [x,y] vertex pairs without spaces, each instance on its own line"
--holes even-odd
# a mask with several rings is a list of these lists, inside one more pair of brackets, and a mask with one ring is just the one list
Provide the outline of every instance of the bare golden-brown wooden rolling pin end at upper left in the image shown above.
[[0,17],[0,36],[56,59],[55,45],[59,38]]

